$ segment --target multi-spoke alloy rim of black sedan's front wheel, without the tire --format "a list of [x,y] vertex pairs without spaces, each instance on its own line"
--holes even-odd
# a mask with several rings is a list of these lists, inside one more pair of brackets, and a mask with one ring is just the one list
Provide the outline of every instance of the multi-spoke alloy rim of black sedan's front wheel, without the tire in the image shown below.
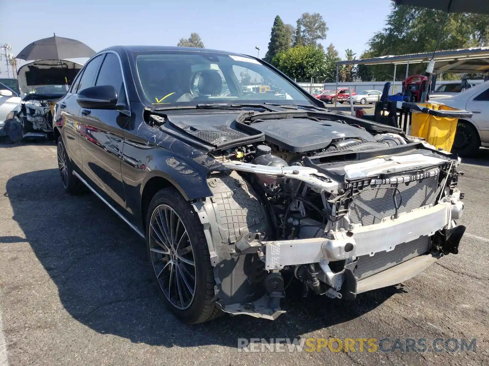
[[178,309],[192,305],[196,289],[194,252],[188,231],[177,212],[158,205],[149,228],[151,261],[167,300]]

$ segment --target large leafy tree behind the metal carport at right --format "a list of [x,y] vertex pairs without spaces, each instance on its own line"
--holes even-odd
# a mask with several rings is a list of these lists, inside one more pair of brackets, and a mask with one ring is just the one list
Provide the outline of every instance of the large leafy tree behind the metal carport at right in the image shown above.
[[[433,52],[446,13],[408,5],[392,5],[385,27],[368,42],[364,54],[369,57]],[[446,18],[438,50],[479,47],[489,42],[489,19],[477,14],[452,13]],[[422,74],[425,63],[409,65],[411,75]],[[392,65],[362,66],[358,68],[362,80],[392,79]],[[398,65],[396,78],[403,78],[405,65]]]

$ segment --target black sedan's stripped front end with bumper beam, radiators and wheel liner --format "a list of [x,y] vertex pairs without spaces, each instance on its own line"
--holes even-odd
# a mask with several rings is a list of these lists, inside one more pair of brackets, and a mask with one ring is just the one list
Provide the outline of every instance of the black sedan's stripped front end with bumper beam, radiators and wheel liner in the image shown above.
[[465,227],[455,222],[464,209],[457,157],[416,139],[354,161],[341,148],[335,154],[344,159],[223,159],[231,173],[210,175],[213,196],[193,206],[223,311],[273,320],[285,312],[280,301],[292,280],[304,296],[355,299],[458,252]]

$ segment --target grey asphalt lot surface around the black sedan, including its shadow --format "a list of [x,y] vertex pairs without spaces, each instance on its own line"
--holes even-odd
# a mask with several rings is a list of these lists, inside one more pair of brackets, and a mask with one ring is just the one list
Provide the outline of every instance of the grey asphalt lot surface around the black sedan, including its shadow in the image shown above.
[[[203,325],[165,309],[144,243],[94,195],[65,194],[55,156],[53,144],[0,145],[0,366],[5,349],[8,365],[489,365],[489,150],[463,164],[458,255],[354,302],[292,299],[275,322],[225,315]],[[385,348],[476,338],[477,350],[237,348],[238,338],[277,337],[390,338]]]

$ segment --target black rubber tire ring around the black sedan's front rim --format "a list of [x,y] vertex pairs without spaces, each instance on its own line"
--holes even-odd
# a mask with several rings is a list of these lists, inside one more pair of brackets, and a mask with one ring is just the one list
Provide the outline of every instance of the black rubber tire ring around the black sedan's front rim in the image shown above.
[[[165,188],[159,190],[156,193],[156,195],[151,200],[148,213],[146,215],[146,247],[147,247],[152,274],[153,274],[153,280],[157,285],[158,292],[161,295],[163,301],[170,309],[170,311],[174,313],[180,320],[182,320],[185,323],[195,323],[199,319],[199,316],[203,312],[205,306],[206,289],[207,289],[205,268],[206,268],[206,261],[210,263],[210,259],[208,254],[204,252],[202,243],[200,243],[201,238],[203,236],[203,229],[201,225],[199,227],[199,225],[196,225],[195,223],[195,219],[198,220],[198,218],[194,215],[197,214],[193,211],[193,208],[189,203],[184,202],[186,204],[182,204],[182,200],[184,201],[183,197],[181,197],[177,189]],[[172,303],[170,303],[170,301],[168,301],[168,299],[166,298],[156,278],[156,274],[152,263],[150,244],[149,244],[149,232],[150,232],[149,229],[150,229],[151,218],[153,217],[153,212],[155,211],[156,207],[161,204],[169,205],[178,214],[183,225],[187,230],[190,239],[190,244],[192,245],[192,250],[194,252],[194,262],[196,267],[195,296],[194,296],[194,300],[192,301],[192,305],[190,305],[188,308],[183,310],[178,309],[177,307],[172,305]],[[207,243],[203,243],[203,244],[207,245]]]

